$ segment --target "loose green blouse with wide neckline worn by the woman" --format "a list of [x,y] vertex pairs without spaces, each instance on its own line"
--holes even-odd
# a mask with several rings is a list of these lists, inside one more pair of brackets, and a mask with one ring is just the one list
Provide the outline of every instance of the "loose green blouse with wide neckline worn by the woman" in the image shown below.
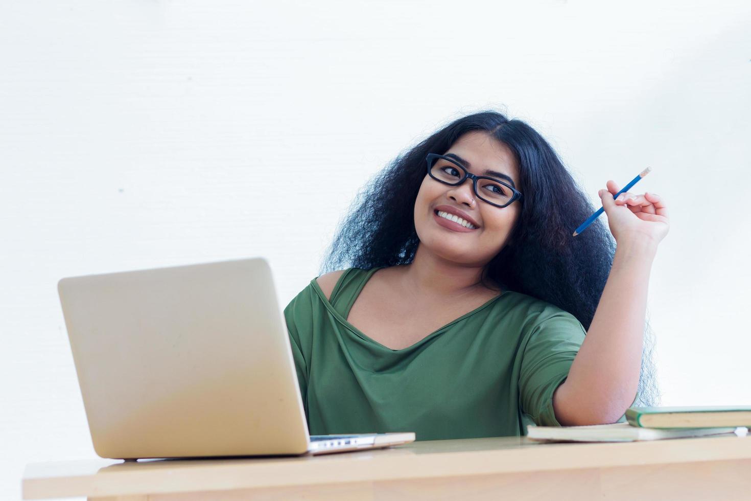
[[284,310],[312,435],[414,431],[436,440],[560,426],[553,391],[586,333],[573,315],[505,291],[394,350],[347,321],[379,269],[345,270],[330,300],[312,279]]

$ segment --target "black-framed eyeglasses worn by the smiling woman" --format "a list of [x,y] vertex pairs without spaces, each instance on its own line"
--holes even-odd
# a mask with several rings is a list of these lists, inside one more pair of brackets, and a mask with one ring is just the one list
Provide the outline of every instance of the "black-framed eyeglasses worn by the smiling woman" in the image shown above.
[[472,180],[472,189],[481,201],[495,207],[506,207],[511,202],[523,202],[522,195],[513,187],[495,177],[475,176],[454,158],[429,153],[427,155],[427,174],[439,183],[458,186],[467,178]]

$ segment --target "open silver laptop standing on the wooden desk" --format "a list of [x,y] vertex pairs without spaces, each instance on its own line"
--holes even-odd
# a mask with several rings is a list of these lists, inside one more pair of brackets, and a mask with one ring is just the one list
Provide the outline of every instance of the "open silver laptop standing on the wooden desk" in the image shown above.
[[101,457],[324,454],[415,440],[309,436],[264,258],[74,276],[58,291]]

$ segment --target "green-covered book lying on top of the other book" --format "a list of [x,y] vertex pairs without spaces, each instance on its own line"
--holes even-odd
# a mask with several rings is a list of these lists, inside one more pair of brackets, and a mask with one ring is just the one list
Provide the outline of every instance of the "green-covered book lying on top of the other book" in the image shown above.
[[751,427],[751,406],[629,407],[626,419],[642,428]]

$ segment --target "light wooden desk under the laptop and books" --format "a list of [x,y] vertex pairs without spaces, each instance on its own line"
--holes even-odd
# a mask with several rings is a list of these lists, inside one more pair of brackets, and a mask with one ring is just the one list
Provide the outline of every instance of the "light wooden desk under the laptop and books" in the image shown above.
[[751,436],[629,443],[526,437],[302,457],[26,467],[24,499],[751,499]]

